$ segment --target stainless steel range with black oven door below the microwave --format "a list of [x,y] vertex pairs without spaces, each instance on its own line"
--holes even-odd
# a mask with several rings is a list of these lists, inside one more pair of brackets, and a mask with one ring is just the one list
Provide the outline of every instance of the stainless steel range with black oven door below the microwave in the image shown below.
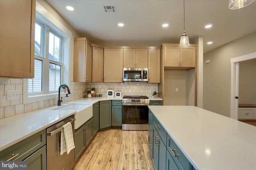
[[148,130],[147,96],[124,96],[122,99],[122,130]]

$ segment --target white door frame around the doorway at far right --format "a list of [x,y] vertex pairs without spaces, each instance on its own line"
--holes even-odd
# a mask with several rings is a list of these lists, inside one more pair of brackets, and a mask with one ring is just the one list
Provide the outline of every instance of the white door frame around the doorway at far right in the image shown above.
[[231,63],[231,95],[230,118],[238,120],[239,63],[256,59],[256,52],[230,59]]

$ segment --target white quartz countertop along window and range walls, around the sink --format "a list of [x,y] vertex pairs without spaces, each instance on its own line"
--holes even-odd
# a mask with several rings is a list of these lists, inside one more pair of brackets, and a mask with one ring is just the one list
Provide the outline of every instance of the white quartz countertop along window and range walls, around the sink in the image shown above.
[[[122,98],[80,98],[72,100],[70,103],[95,104],[105,100],[122,100]],[[150,98],[150,100],[162,99]],[[62,103],[61,105],[64,106],[65,104]],[[58,106],[50,106],[0,119],[0,151],[76,113],[76,111],[51,110],[56,107]]]

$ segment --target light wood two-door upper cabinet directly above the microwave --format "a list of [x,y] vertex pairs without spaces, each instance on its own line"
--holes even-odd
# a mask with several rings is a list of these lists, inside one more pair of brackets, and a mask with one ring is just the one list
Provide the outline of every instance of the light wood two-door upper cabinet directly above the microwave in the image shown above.
[[124,49],[124,68],[148,68],[148,49]]

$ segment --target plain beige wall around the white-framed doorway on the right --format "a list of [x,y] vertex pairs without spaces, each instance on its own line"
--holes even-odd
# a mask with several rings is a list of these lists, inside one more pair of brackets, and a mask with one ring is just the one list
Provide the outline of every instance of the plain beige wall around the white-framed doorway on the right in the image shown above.
[[[204,53],[203,108],[230,117],[230,59],[256,52],[256,32]],[[206,60],[209,64],[205,64]]]

